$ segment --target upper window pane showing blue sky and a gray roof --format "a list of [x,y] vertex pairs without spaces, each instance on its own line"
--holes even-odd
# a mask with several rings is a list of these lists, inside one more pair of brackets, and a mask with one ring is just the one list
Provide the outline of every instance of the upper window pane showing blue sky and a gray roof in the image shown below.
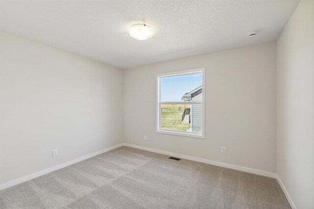
[[202,101],[202,73],[160,78],[160,101]]

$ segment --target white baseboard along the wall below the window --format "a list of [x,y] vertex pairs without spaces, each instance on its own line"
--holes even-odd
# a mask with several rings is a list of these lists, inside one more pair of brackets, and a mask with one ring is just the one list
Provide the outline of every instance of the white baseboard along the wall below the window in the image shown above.
[[192,156],[187,156],[187,155],[182,155],[182,154],[178,154],[178,153],[153,149],[153,148],[149,148],[149,147],[138,146],[138,145],[129,144],[129,143],[124,143],[123,145],[128,146],[128,147],[133,147],[136,149],[142,149],[142,150],[146,150],[146,151],[150,151],[150,152],[155,152],[155,153],[159,153],[159,154],[163,154],[163,155],[169,155],[169,156],[173,156],[176,158],[182,158],[182,159],[186,159],[186,160],[190,160],[190,161],[207,163],[207,164],[216,165],[216,166],[220,166],[220,167],[231,168],[231,169],[235,169],[235,170],[239,170],[239,171],[253,173],[253,174],[257,174],[257,175],[261,175],[261,176],[267,176],[270,178],[276,178],[276,176],[277,176],[275,173],[257,170],[254,168],[242,167],[239,165],[233,165],[233,164],[228,164],[228,163],[221,163],[221,162],[217,162],[217,161],[211,161],[211,160],[207,160],[207,159],[203,159],[203,158],[196,158],[196,157],[192,157]]

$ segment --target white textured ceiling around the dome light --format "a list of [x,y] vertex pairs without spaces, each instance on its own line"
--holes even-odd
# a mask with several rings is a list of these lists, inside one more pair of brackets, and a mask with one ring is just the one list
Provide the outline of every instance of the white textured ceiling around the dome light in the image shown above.
[[[1,0],[1,31],[118,68],[274,41],[295,0]],[[137,23],[155,36],[127,35]],[[247,32],[258,35],[247,38]]]

